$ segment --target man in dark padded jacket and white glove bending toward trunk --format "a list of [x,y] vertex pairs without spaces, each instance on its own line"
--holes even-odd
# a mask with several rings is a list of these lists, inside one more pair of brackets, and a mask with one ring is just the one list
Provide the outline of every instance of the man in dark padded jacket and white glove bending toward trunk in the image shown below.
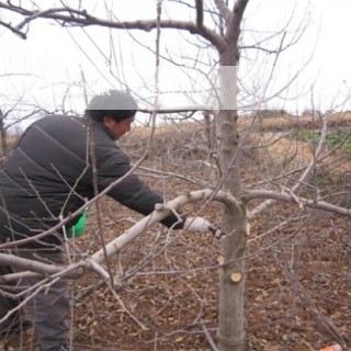
[[[110,90],[95,95],[87,118],[47,116],[33,123],[19,140],[0,173],[0,242],[30,238],[18,245],[15,253],[44,262],[65,263],[63,230],[39,239],[38,234],[60,223],[81,207],[87,199],[106,189],[129,169],[127,156],[115,140],[129,132],[137,112],[135,100],[127,93]],[[150,214],[163,200],[135,174],[131,174],[107,193],[123,205],[144,215]],[[78,218],[71,220],[71,227]],[[169,215],[162,222],[173,228],[206,231],[210,223],[201,217],[180,222]],[[0,267],[0,274],[11,272]],[[38,278],[25,280],[34,286]],[[0,290],[0,319],[16,307]],[[39,351],[65,351],[69,330],[67,282],[59,280],[39,290],[27,302]],[[0,324],[1,331],[21,326],[21,315],[12,314]]]

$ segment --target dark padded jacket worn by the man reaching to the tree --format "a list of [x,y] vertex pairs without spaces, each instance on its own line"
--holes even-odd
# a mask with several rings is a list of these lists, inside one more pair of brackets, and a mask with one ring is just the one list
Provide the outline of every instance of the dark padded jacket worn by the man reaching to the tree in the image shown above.
[[[0,241],[47,230],[59,223],[60,215],[66,217],[82,206],[86,199],[93,197],[91,145],[99,192],[129,171],[129,160],[110,131],[100,123],[92,123],[92,133],[88,129],[86,118],[54,115],[25,131],[0,173]],[[144,215],[163,202],[135,174],[107,195]],[[162,223],[170,227],[177,222],[171,215]],[[26,246],[43,248],[49,247],[48,244],[60,245],[61,231]]]

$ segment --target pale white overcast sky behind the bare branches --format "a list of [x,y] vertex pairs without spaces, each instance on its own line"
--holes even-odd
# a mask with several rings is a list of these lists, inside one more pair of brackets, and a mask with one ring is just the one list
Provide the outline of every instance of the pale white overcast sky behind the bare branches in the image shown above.
[[[118,0],[114,3],[114,11],[121,20],[155,18],[155,0]],[[279,57],[278,77],[274,78],[276,82],[270,87],[272,92],[279,84],[284,83],[284,79],[287,80],[288,77],[294,76],[312,55],[313,58],[298,80],[288,89],[286,95],[273,101],[271,106],[304,110],[305,107],[310,109],[310,102],[314,101],[315,107],[321,110],[350,109],[349,102],[344,102],[344,98],[350,89],[351,73],[351,44],[348,38],[351,33],[351,21],[349,20],[351,1],[310,0],[308,7],[307,3],[307,0],[297,0],[295,7],[295,2],[292,0],[250,0],[244,23],[244,30],[248,31],[244,32],[244,45],[253,43],[254,31],[271,33],[280,29],[295,10],[294,19],[287,30],[288,35],[293,35],[293,29],[298,30],[303,18],[308,19],[308,26],[299,42]],[[169,13],[166,12],[165,15]],[[179,12],[172,11],[171,13],[184,19]],[[8,18],[4,15],[8,14],[0,10],[0,19],[5,22]],[[103,47],[109,47],[106,29],[88,29],[87,31],[93,34],[94,38],[98,38],[102,50]],[[154,57],[152,55],[148,56],[147,49],[138,48],[138,44],[134,42],[135,36],[143,44],[154,45],[155,31],[150,33],[136,35],[136,32],[132,32],[132,36],[120,35],[120,39],[114,42],[117,56],[123,57],[123,64],[113,68],[120,78],[123,76],[123,79],[128,81],[143,72],[146,75],[143,79],[147,81],[149,87],[152,86]],[[77,46],[72,37],[83,49]],[[0,39],[2,43],[0,56],[0,99],[2,105],[4,103],[13,105],[18,99],[23,97],[27,104],[48,107],[55,104],[57,106],[63,104],[65,89],[70,86],[71,94],[79,97],[79,107],[83,109],[79,87],[80,68],[88,76],[90,86],[88,89],[97,91],[117,84],[116,80],[107,73],[111,67],[105,65],[102,55],[80,29],[69,32],[56,23],[38,20],[32,23],[26,41],[19,38],[3,27],[0,27]],[[174,42],[172,47],[172,36],[165,36],[165,41],[169,41],[168,47],[173,50],[174,55],[178,55],[177,59],[180,59],[182,56],[180,44]],[[133,50],[140,54],[134,54],[132,57]],[[106,50],[105,55],[109,56],[109,54]],[[125,55],[123,56],[123,54]],[[271,55],[268,57],[267,65],[271,65],[272,61]],[[241,63],[245,66],[245,60]],[[252,60],[250,65],[252,65]],[[259,65],[262,66],[262,75],[270,70],[262,61],[259,61]],[[170,73],[169,71],[165,72],[165,80],[172,79],[171,76],[168,76]],[[101,75],[105,78],[101,79]],[[251,77],[252,81],[259,77],[258,75],[254,72],[254,77]],[[310,93],[312,86],[314,87],[313,94]],[[151,89],[149,91],[140,90],[139,93],[147,95],[150,91]],[[284,97],[286,100],[283,99]],[[290,99],[294,97],[298,97],[298,99],[291,101]],[[67,109],[67,106],[69,103],[65,101],[65,107]],[[72,104],[72,109],[77,109],[77,105]]]

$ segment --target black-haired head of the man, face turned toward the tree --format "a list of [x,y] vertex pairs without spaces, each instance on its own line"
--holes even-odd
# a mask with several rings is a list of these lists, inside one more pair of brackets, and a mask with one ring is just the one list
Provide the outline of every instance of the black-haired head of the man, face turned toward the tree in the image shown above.
[[101,95],[91,99],[87,114],[95,121],[104,124],[118,139],[123,134],[131,132],[131,126],[138,105],[126,92],[109,90]]

